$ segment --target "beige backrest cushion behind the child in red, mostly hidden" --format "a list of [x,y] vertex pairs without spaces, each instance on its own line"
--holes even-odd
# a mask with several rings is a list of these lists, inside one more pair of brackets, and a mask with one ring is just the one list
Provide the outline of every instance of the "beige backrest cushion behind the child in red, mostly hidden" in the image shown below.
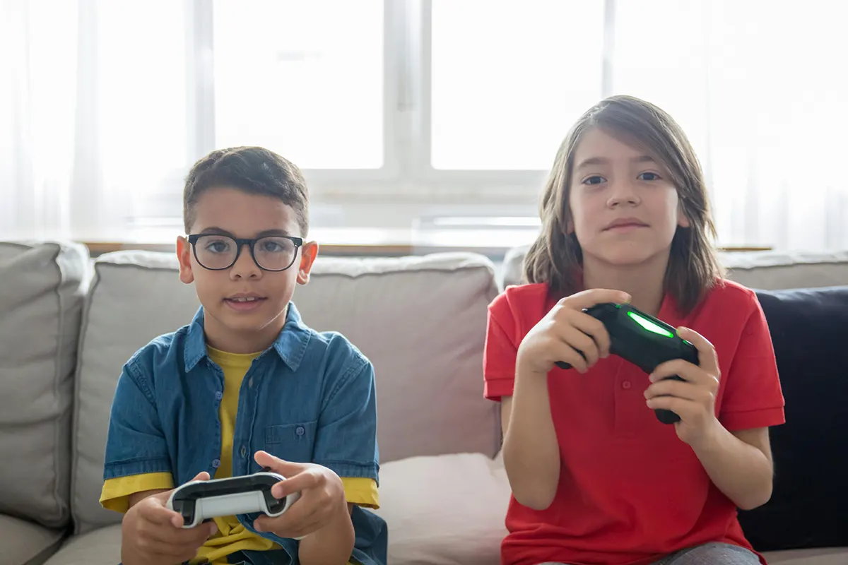
[[[510,249],[504,258],[501,285],[519,285],[527,246]],[[848,285],[848,251],[721,252],[728,279],[748,288],[778,290]]]

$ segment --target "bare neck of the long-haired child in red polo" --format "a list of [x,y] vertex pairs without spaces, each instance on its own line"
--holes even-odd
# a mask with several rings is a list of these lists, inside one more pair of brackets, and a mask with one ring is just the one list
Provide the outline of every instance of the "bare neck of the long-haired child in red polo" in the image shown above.
[[634,307],[656,316],[665,294],[663,282],[667,264],[667,253],[635,265],[613,265],[584,254],[583,286],[625,291],[632,297],[630,303]]

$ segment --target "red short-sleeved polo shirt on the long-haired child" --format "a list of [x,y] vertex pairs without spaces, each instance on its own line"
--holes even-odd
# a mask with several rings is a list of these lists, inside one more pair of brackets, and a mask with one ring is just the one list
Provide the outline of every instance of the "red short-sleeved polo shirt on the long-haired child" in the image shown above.
[[[544,284],[509,287],[492,302],[483,360],[487,398],[512,395],[518,345],[555,302]],[[716,413],[725,428],[784,423],[772,341],[753,291],[722,281],[686,317],[666,296],[658,318],[687,326],[716,347],[722,370]],[[750,549],[734,503],[674,426],[645,406],[648,385],[647,374],[616,356],[600,359],[587,374],[550,372],[560,482],[544,511],[512,498],[502,563],[641,565],[710,541]]]

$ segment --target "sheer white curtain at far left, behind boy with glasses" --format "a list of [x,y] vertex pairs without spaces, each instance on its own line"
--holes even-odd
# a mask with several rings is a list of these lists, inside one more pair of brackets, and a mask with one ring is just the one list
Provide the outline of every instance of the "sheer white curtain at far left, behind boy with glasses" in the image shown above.
[[0,0],[0,237],[120,241],[175,186],[182,16],[165,0]]

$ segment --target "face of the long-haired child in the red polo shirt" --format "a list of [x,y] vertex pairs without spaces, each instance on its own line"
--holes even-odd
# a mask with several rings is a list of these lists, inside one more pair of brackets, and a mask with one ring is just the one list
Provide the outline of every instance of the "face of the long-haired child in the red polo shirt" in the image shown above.
[[671,248],[674,232],[688,226],[667,170],[604,131],[585,133],[574,155],[569,229],[583,257],[634,265]]

